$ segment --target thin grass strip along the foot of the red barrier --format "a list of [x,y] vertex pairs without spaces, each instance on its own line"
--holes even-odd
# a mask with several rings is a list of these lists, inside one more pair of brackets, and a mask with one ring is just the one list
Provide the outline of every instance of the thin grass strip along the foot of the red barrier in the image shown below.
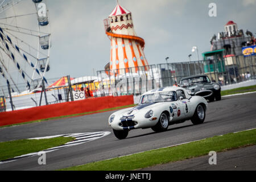
[[113,107],[113,108],[110,108],[110,109],[103,109],[103,110],[91,111],[91,112],[86,112],[86,113],[79,113],[79,114],[72,114],[72,115],[63,115],[63,116],[60,116],[60,117],[53,117],[53,118],[47,118],[47,119],[39,119],[39,120],[36,120],[36,121],[30,121],[30,122],[24,122],[24,123],[16,123],[16,124],[14,124],[14,125],[0,126],[0,129],[3,128],[3,127],[19,126],[19,125],[26,125],[26,124],[30,124],[30,123],[38,123],[38,122],[43,122],[43,121],[49,121],[49,120],[52,120],[52,119],[61,119],[61,118],[69,118],[69,117],[78,117],[78,116],[81,116],[81,115],[102,113],[102,112],[106,112],[106,111],[124,109],[124,108],[127,108],[127,107],[133,107],[133,106],[135,106],[135,105],[127,105],[127,106]]

